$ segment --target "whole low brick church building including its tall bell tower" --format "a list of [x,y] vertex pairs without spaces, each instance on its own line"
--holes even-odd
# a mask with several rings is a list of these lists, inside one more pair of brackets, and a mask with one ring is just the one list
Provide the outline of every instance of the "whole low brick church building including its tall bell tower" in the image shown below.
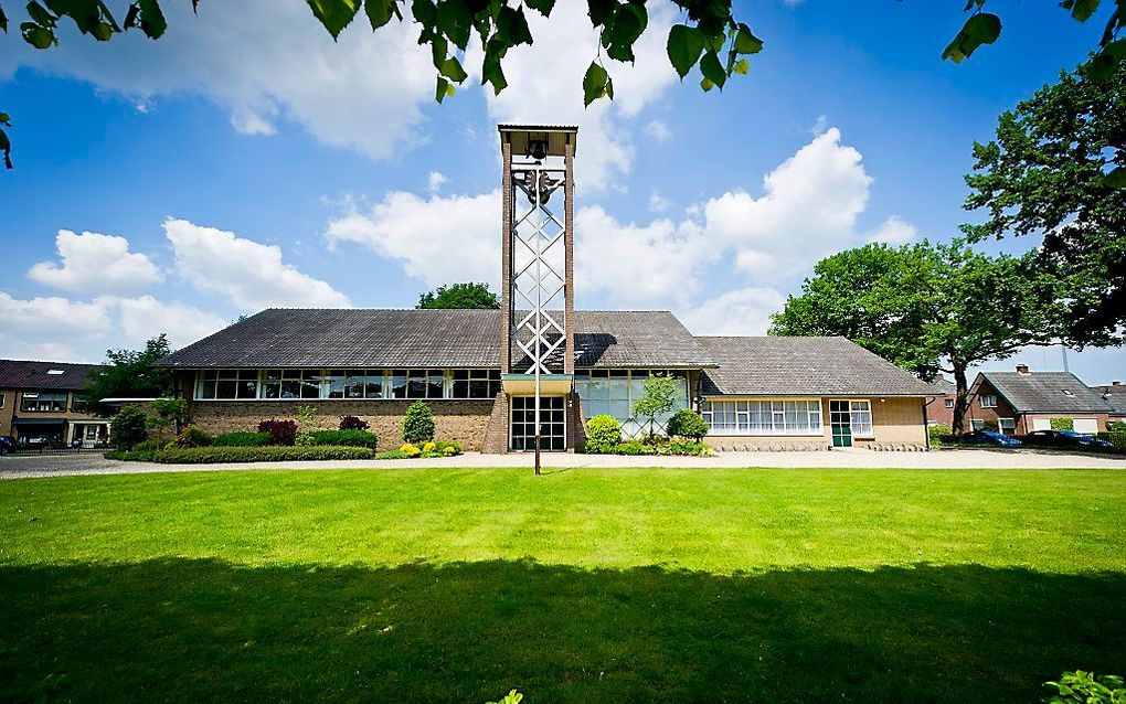
[[314,425],[357,416],[394,447],[421,400],[466,449],[565,452],[595,416],[645,431],[633,409],[660,374],[716,447],[926,447],[936,389],[843,338],[697,337],[668,311],[575,310],[578,128],[501,125],[500,144],[500,310],[262,311],[161,362],[193,422],[248,430],[310,406]]

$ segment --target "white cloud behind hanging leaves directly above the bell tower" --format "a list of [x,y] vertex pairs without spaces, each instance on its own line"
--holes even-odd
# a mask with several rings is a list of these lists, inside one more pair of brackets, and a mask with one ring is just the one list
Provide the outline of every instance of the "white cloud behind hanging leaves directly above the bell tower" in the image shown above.
[[[605,60],[614,80],[614,100],[597,100],[588,108],[582,105],[582,77],[598,54],[598,34],[590,26],[584,2],[556,3],[551,20],[528,11],[535,44],[508,52],[504,75],[509,86],[500,96],[491,87],[485,89],[489,114],[498,122],[540,124],[546,119],[580,126],[575,160],[580,189],[607,189],[615,176],[629,172],[635,146],[628,121],[677,80],[665,53],[674,7],[654,1],[647,9],[649,27],[634,46],[634,64]],[[481,57],[480,46],[471,47],[472,79],[480,80]]]

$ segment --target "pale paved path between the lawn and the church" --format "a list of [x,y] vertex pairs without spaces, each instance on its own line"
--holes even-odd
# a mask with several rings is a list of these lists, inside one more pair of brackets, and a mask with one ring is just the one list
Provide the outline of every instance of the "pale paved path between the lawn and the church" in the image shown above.
[[[328,462],[259,462],[252,464],[151,464],[118,462],[100,455],[34,455],[0,457],[0,479],[70,474],[138,474],[145,472],[215,472],[226,470],[339,470],[426,467],[530,467],[531,456],[481,455],[435,460],[339,460]],[[544,455],[545,467],[903,467],[903,469],[1118,469],[1121,457],[1037,451],[944,449],[935,452],[731,452],[715,457],[625,457],[616,455]]]

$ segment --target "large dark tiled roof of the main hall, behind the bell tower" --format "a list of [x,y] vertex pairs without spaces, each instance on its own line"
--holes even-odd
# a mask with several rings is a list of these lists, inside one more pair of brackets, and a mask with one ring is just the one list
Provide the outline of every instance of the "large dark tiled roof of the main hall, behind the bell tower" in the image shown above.
[[[683,367],[707,351],[665,311],[575,312],[578,365]],[[168,357],[163,366],[498,367],[500,311],[270,309]]]

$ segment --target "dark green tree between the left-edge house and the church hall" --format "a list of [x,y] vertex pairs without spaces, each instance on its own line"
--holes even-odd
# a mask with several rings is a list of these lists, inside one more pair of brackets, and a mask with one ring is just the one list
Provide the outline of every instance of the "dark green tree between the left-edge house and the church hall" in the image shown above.
[[87,380],[82,401],[102,417],[111,416],[113,407],[102,399],[154,399],[172,394],[175,382],[169,369],[153,366],[172,354],[168,337],[161,332],[145,342],[144,349],[108,349],[105,367]]

